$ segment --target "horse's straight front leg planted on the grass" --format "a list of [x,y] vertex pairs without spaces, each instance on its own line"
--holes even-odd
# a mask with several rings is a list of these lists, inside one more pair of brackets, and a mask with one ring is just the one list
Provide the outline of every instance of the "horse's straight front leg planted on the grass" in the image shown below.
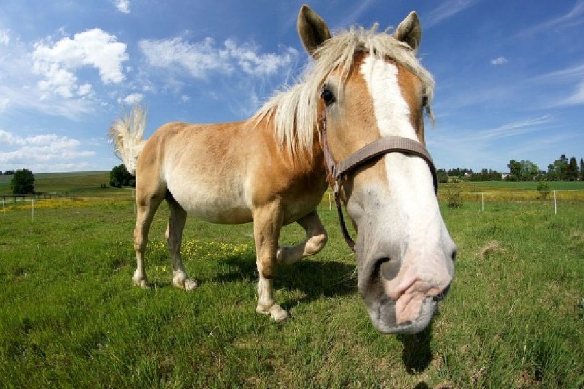
[[254,210],[254,236],[258,273],[258,306],[256,312],[269,314],[275,321],[283,321],[288,312],[276,304],[273,298],[273,277],[276,275],[276,247],[282,228],[280,205],[271,204],[260,210]]

